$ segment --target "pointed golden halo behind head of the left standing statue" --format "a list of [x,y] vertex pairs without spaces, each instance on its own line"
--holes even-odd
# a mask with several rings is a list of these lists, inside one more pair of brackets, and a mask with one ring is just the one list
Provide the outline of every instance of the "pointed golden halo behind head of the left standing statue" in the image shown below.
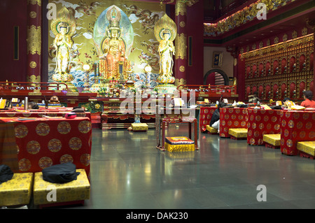
[[60,27],[67,27],[69,36],[73,36],[76,31],[76,20],[66,7],[60,9],[57,13],[57,18],[52,20],[50,29],[53,34],[59,34]]

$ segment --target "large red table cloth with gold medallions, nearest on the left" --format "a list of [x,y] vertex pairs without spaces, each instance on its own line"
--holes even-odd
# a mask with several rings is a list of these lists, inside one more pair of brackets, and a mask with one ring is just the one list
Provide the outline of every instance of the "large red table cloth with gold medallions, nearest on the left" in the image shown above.
[[1,118],[13,122],[20,172],[41,172],[43,168],[71,161],[90,174],[92,124],[87,117]]

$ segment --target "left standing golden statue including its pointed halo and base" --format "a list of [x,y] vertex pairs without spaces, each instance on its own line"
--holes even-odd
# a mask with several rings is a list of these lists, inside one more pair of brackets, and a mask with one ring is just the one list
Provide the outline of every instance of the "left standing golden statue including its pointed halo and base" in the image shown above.
[[71,39],[76,29],[76,23],[67,8],[59,10],[57,18],[50,24],[55,39],[52,43],[56,50],[56,68],[52,75],[52,80],[57,82],[71,82],[73,76],[69,73],[69,63],[71,58]]

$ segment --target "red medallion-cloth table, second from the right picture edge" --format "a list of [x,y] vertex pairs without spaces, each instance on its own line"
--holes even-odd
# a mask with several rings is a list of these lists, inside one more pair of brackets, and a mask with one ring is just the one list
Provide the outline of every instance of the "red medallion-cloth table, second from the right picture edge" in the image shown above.
[[247,143],[263,145],[265,134],[280,134],[281,110],[247,109]]

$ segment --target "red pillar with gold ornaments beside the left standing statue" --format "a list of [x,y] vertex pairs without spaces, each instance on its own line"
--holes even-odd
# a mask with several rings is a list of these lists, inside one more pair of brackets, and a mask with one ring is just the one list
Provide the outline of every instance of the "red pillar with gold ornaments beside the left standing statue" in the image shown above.
[[41,82],[41,0],[27,1],[27,81]]

